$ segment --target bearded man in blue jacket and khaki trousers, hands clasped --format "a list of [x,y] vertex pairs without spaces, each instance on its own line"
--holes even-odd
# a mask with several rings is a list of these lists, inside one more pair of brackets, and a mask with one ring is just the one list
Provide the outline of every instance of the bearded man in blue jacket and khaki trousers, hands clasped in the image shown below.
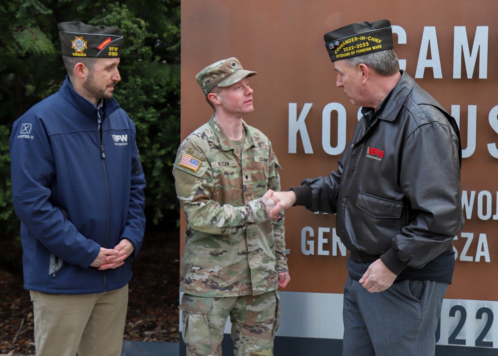
[[123,35],[58,28],[68,76],[14,123],[9,145],[36,355],[120,356],[145,227],[135,126],[113,99]]

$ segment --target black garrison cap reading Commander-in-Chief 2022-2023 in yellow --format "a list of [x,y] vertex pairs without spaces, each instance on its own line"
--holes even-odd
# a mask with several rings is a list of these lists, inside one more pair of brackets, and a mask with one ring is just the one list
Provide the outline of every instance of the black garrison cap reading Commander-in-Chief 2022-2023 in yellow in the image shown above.
[[325,33],[323,39],[332,62],[394,48],[388,20],[352,23]]

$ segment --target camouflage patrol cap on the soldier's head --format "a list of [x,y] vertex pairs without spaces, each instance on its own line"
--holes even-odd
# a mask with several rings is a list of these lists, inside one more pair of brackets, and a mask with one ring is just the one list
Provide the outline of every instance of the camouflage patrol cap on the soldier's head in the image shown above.
[[195,79],[197,79],[204,95],[207,95],[216,86],[228,87],[255,74],[256,72],[243,69],[241,62],[232,57],[208,65],[197,73]]

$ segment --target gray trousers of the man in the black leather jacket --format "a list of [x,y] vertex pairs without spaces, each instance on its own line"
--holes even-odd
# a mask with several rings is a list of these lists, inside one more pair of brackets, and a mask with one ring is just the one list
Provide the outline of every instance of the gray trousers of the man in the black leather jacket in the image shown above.
[[343,356],[434,356],[447,288],[441,282],[403,280],[370,293],[348,277]]

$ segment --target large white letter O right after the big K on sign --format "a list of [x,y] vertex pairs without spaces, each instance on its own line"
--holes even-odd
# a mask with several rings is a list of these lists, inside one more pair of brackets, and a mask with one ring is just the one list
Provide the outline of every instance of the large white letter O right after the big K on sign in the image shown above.
[[[337,111],[337,146],[330,145],[332,133],[330,116],[333,111]],[[325,105],[322,112],[322,147],[323,150],[332,156],[340,155],[346,148],[346,109],[339,103]]]

